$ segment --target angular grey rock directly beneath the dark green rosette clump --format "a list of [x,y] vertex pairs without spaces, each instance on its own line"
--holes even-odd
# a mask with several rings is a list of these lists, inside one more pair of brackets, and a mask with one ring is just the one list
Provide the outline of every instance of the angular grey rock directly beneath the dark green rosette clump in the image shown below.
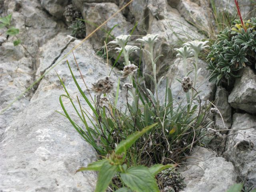
[[240,76],[228,96],[228,102],[233,108],[256,113],[256,74],[250,67],[245,67]]

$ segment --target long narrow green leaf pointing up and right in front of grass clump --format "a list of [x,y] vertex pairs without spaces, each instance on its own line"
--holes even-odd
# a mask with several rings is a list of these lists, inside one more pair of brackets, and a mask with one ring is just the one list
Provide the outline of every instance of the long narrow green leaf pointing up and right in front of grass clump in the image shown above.
[[122,152],[125,152],[136,142],[138,138],[140,138],[144,133],[148,132],[150,129],[152,129],[154,126],[156,126],[158,123],[152,124],[150,126],[146,126],[144,129],[142,129],[140,132],[135,132],[134,134],[131,134],[126,138],[126,140],[122,140],[118,146],[116,146],[116,154],[122,154]]

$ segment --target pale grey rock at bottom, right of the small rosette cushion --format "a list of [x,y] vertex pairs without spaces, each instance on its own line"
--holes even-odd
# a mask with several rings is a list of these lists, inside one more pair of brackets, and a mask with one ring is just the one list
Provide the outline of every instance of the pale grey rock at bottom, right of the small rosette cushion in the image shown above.
[[181,173],[187,184],[182,192],[224,192],[236,182],[232,163],[202,147],[193,149]]

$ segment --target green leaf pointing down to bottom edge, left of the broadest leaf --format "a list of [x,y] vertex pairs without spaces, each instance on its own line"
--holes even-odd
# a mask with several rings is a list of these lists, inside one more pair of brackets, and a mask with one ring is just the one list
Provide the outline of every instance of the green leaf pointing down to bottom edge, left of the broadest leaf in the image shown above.
[[98,180],[96,184],[95,192],[104,192],[108,188],[108,185],[110,184],[115,172],[116,172],[117,166],[111,165],[109,162],[105,162],[98,174]]

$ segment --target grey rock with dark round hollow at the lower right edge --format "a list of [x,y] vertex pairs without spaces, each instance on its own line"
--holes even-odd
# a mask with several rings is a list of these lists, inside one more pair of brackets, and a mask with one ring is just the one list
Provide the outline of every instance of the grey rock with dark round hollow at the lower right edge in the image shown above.
[[234,164],[241,182],[256,186],[256,117],[235,113],[229,135],[225,158]]

